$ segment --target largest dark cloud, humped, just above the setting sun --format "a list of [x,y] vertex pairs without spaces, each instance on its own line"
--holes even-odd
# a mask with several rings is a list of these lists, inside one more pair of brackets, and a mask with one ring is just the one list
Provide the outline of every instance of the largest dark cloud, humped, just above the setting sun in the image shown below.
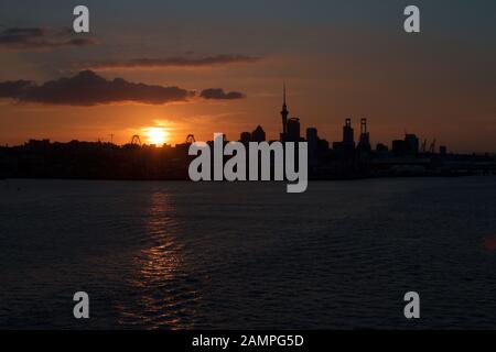
[[0,82],[0,97],[47,105],[95,106],[126,101],[161,105],[185,101],[194,95],[177,87],[136,84],[122,78],[107,80],[90,70],[41,86],[25,80]]

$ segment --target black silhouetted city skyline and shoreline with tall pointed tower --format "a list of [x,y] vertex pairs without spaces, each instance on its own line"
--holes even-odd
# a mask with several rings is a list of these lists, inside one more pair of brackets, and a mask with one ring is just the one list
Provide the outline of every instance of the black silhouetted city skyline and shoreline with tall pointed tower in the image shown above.
[[[319,135],[315,127],[301,132],[300,118],[290,116],[285,82],[282,88],[279,142],[308,143],[308,168],[311,179],[356,179],[367,177],[405,176],[465,176],[496,173],[496,155],[485,153],[450,153],[445,145],[432,141],[421,142],[413,133],[406,133],[390,145],[370,143],[367,119],[360,119],[358,138],[352,119],[344,121],[342,140],[327,141]],[[229,139],[224,135],[224,143]],[[238,142],[248,144],[276,142],[267,139],[258,124],[252,132],[242,131]],[[50,140],[30,140],[22,146],[0,147],[2,177],[96,178],[96,179],[188,179],[187,167],[193,160],[188,155],[194,134],[185,143],[171,146],[142,143],[133,135],[130,143],[78,142],[51,143]],[[213,145],[214,142],[209,141]],[[65,156],[64,156],[65,155]],[[93,155],[90,157],[90,155]],[[137,155],[141,162],[137,163]],[[274,154],[271,154],[271,158]],[[226,158],[224,156],[225,161]],[[225,162],[224,161],[224,162]],[[144,163],[144,164],[143,164]],[[55,170],[53,164],[57,165]],[[74,168],[74,165],[77,165]],[[273,166],[272,166],[273,167]],[[72,169],[73,168],[73,169]],[[271,175],[273,179],[273,170]]]

